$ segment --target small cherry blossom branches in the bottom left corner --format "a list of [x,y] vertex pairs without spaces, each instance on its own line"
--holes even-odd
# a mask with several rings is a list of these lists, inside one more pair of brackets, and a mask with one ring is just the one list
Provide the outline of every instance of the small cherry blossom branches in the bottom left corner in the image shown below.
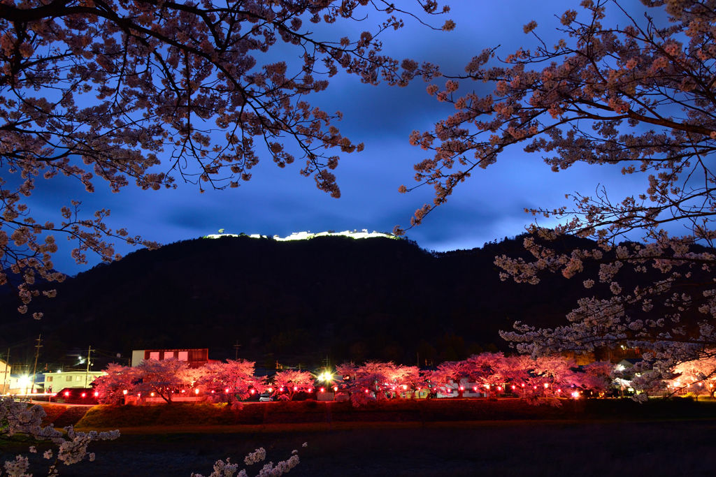
[[[45,416],[41,405],[29,406],[12,398],[0,398],[0,438],[5,443],[27,443],[30,453],[37,453],[35,445],[51,442],[57,449],[44,451],[43,457],[49,461],[47,475],[56,476],[60,463],[72,465],[85,458],[95,460],[94,453],[87,452],[87,446],[94,441],[112,441],[120,437],[120,431],[89,433],[74,431],[72,426],[64,428],[67,434],[53,428],[42,426]],[[26,456],[18,455],[14,461],[6,461],[0,469],[0,477],[32,477],[29,473],[30,462]],[[37,475],[37,473],[34,473]]]

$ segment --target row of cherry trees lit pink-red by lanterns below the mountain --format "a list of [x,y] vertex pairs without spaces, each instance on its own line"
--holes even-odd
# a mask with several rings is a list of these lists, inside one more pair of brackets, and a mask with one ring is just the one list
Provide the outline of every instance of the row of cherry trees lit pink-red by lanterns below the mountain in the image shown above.
[[[127,397],[139,402],[162,398],[168,403],[178,395],[202,396],[211,402],[241,405],[257,393],[291,400],[296,393],[334,391],[345,393],[354,405],[369,400],[412,398],[425,395],[516,395],[534,402],[555,402],[558,398],[579,398],[585,393],[599,395],[613,383],[629,385],[624,370],[609,362],[577,366],[561,356],[533,359],[526,355],[505,356],[482,353],[462,361],[442,363],[435,370],[416,366],[369,362],[346,363],[336,373],[315,376],[308,371],[284,370],[270,378],[256,376],[254,363],[228,360],[190,368],[188,363],[145,360],[135,367],[112,364],[106,375],[95,380],[102,403],[120,403]],[[664,393],[710,393],[716,383],[716,360],[682,363],[674,368],[674,379],[662,382]]]

